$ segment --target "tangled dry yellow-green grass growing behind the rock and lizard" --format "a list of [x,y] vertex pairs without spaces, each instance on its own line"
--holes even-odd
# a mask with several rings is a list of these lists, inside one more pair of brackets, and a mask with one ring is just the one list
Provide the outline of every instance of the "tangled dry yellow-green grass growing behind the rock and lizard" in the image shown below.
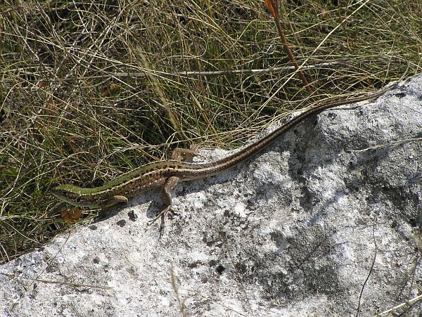
[[279,12],[312,96],[263,1],[0,4],[0,263],[98,213],[66,222],[52,186],[98,186],[191,142],[236,148],[309,103],[421,72],[420,0]]

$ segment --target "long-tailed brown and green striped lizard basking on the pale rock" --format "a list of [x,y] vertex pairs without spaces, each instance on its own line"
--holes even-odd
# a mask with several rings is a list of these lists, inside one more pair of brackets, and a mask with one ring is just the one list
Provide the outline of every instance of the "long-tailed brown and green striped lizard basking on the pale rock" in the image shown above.
[[267,136],[258,139],[255,143],[251,143],[245,148],[238,150],[236,153],[215,162],[182,162],[180,160],[181,154],[187,153],[188,155],[196,155],[198,148],[193,148],[191,150],[176,148],[173,151],[172,160],[159,160],[145,164],[118,176],[116,179],[105,183],[103,186],[81,188],[74,185],[60,185],[53,188],[51,193],[60,200],[77,207],[105,208],[119,203],[127,203],[128,198],[132,198],[134,195],[147,190],[161,188],[161,198],[164,208],[154,221],[158,219],[159,216],[162,216],[163,224],[164,215],[170,210],[172,205],[172,192],[179,181],[203,179],[231,169],[254,157],[257,153],[262,152],[271,145],[271,143],[276,141],[279,136],[285,134],[286,131],[292,129],[308,117],[340,105],[349,105],[378,98],[386,91],[392,89],[392,86],[366,96],[350,98],[345,101],[324,103],[317,105],[314,108],[310,108],[309,110],[305,110],[267,134]]

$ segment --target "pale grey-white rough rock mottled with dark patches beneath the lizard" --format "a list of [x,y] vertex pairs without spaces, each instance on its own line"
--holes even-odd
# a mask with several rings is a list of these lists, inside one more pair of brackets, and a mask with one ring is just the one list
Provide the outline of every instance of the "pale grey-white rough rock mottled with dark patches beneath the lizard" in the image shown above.
[[[0,316],[393,308],[422,287],[421,138],[422,76],[327,110],[231,172],[179,183],[162,238],[147,226],[160,209],[149,193],[0,266]],[[404,309],[418,316],[422,304]]]

